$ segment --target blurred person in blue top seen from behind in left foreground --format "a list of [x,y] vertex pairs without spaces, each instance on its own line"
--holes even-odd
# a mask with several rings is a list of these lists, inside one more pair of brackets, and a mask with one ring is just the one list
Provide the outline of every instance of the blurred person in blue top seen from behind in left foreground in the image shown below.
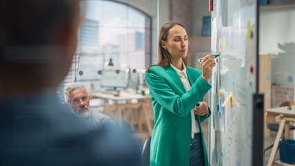
[[0,165],[140,165],[126,129],[89,130],[57,99],[79,10],[80,0],[0,1]]

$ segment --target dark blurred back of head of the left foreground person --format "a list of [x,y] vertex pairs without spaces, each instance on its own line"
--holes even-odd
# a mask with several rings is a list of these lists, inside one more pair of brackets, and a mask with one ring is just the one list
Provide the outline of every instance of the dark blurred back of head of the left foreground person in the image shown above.
[[0,1],[0,98],[56,89],[71,67],[79,0]]

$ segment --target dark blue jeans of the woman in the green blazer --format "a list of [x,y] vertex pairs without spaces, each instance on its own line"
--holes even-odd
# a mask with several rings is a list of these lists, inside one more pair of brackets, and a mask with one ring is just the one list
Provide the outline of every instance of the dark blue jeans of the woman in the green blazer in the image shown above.
[[190,140],[190,166],[204,165],[201,133],[195,133]]

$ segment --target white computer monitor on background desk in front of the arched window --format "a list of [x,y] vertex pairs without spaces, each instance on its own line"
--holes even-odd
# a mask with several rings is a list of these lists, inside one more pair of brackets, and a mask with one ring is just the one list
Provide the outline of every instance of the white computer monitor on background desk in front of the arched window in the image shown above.
[[100,86],[107,88],[125,88],[128,82],[128,72],[114,69],[102,70]]

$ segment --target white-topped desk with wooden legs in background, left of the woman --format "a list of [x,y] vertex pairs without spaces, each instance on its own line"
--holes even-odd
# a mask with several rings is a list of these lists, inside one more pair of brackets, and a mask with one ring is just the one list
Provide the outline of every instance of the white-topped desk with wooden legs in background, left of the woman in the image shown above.
[[[105,99],[105,111],[110,111],[110,107],[108,107],[109,100],[114,100],[114,111],[116,116],[118,117],[118,121],[122,122],[123,121],[123,112],[127,108],[129,110],[129,121],[131,124],[131,127],[133,129],[133,124],[134,118],[133,118],[133,113],[132,113],[132,108],[134,107],[139,107],[140,112],[139,112],[139,117],[138,117],[138,131],[142,130],[142,118],[143,117],[145,120],[145,123],[147,124],[147,130],[149,133],[149,136],[152,136],[152,122],[148,116],[147,113],[147,107],[150,106],[150,95],[141,95],[141,94],[136,94],[136,93],[128,93],[126,91],[120,91],[120,95],[116,96],[114,93],[110,92],[104,92],[104,91],[89,91],[89,95],[91,98],[101,98]],[[142,100],[141,102],[137,103],[131,103],[130,100]],[[126,104],[119,104],[118,100],[126,100]],[[152,111],[152,113],[154,113]]]

